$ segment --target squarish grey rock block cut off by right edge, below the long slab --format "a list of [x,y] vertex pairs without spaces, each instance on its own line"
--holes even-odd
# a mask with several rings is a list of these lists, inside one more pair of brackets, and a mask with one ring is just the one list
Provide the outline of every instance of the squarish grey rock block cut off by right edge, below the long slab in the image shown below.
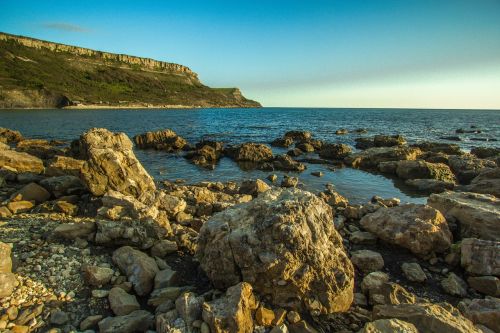
[[500,242],[465,238],[461,254],[461,265],[467,273],[500,276]]

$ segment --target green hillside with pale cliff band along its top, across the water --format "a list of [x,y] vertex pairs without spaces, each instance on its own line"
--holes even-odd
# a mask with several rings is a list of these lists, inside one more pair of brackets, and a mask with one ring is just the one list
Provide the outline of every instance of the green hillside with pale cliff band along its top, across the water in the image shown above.
[[182,65],[0,33],[0,108],[259,106]]

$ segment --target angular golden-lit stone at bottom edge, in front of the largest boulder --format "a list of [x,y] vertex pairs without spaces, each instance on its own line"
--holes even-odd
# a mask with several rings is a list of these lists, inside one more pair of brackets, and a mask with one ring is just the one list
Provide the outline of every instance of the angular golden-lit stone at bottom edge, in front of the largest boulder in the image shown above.
[[253,313],[257,301],[252,286],[246,282],[229,287],[224,296],[205,302],[202,317],[211,332],[253,333]]

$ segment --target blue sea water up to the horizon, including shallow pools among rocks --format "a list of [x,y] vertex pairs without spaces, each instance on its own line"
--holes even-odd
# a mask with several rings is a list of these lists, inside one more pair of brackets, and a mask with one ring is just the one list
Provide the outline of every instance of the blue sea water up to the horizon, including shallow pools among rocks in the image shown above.
[[[269,143],[289,130],[308,130],[318,139],[354,146],[361,136],[401,134],[410,143],[441,141],[459,144],[463,149],[499,147],[500,111],[495,110],[418,110],[418,109],[181,109],[181,110],[0,110],[0,127],[19,130],[29,138],[72,140],[92,127],[127,133],[130,137],[146,131],[170,128],[191,143],[212,139],[226,143]],[[335,131],[346,128],[347,135]],[[355,129],[364,128],[366,134]],[[480,133],[456,134],[457,129]],[[442,137],[459,136],[460,141]],[[284,152],[274,149],[276,153]],[[182,154],[136,150],[137,157],[156,180],[241,181],[265,178],[269,172],[242,170],[223,158],[215,170],[190,164]],[[314,155],[312,155],[313,157]],[[351,202],[362,203],[373,195],[399,197],[403,202],[425,202],[397,179],[351,168],[330,170],[326,165],[308,164],[300,177],[305,189],[318,192],[330,183]],[[323,171],[324,177],[311,175]],[[282,172],[275,172],[282,176]],[[290,173],[293,174],[293,173]],[[294,174],[295,175],[295,174]]]

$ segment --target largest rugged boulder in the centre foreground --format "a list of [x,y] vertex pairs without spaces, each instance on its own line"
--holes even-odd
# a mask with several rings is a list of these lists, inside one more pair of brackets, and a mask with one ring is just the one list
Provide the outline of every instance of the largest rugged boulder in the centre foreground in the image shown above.
[[346,311],[354,270],[332,221],[314,194],[273,189],[208,220],[197,258],[217,288],[245,281],[277,306]]

